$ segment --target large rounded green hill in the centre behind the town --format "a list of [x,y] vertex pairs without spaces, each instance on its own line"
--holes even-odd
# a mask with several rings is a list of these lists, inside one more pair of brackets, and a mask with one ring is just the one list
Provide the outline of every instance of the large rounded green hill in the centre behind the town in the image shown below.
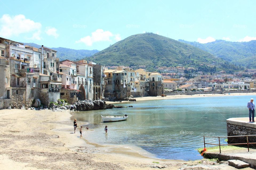
[[217,70],[242,69],[192,45],[153,33],[129,36],[94,54],[89,60],[106,66],[215,66]]

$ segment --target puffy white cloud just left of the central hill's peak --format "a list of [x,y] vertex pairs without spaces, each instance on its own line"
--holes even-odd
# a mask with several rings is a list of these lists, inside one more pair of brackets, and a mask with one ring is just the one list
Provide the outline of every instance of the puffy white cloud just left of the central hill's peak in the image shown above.
[[111,41],[110,37],[113,37],[113,36],[115,36],[116,41],[121,40],[121,37],[119,34],[114,35],[110,31],[103,31],[103,29],[97,29],[96,31],[91,33],[91,36],[88,35],[75,42],[85,43],[87,46],[92,46],[94,42]]

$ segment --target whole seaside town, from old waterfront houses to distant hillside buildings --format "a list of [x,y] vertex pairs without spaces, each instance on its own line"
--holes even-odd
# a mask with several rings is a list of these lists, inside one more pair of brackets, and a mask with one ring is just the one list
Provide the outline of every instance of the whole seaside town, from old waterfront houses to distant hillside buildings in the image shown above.
[[[193,67],[103,66],[79,60],[59,61],[57,51],[24,45],[0,37],[0,109],[27,108],[34,99],[42,107],[65,100],[129,100],[130,96],[165,96],[181,93],[255,90],[256,69],[226,74],[204,73]],[[201,64],[203,65],[203,64]],[[244,77],[244,75],[250,75]]]

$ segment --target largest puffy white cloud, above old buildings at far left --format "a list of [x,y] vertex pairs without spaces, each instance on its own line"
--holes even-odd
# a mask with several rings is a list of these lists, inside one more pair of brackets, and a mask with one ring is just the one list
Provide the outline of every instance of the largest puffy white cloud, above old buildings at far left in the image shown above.
[[41,23],[27,19],[25,15],[22,14],[15,16],[4,14],[2,18],[0,18],[0,36],[6,38],[19,36],[22,33],[34,33],[37,35],[33,35],[32,37],[41,39],[39,34],[41,27]]

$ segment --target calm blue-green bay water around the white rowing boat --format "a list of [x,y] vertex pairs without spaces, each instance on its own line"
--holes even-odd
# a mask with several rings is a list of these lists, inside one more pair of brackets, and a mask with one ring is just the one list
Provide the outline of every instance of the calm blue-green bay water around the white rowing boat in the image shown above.
[[[195,149],[203,147],[203,135],[226,136],[226,119],[247,117],[246,105],[252,97],[226,95],[137,101],[118,104],[133,105],[133,108],[77,112],[74,117],[90,123],[93,131],[86,134],[90,142],[136,145],[157,158],[195,160],[202,158]],[[101,115],[124,114],[129,116],[127,121],[100,123]],[[106,125],[107,135],[103,131]]]

